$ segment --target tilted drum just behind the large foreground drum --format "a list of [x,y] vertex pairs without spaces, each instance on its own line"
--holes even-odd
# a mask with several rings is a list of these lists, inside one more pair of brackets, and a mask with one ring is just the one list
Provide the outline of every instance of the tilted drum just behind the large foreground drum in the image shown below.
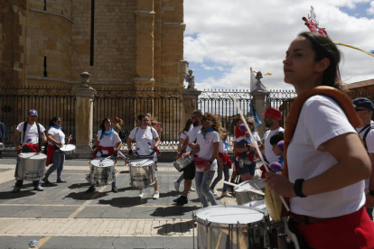
[[[262,190],[265,192],[265,179],[246,180],[241,182],[239,185],[245,186],[249,189]],[[258,188],[257,188],[258,187]],[[238,205],[243,205],[249,201],[255,199],[262,199],[264,196],[250,192],[247,189],[241,189],[239,187],[234,188],[235,197],[237,198]]]

